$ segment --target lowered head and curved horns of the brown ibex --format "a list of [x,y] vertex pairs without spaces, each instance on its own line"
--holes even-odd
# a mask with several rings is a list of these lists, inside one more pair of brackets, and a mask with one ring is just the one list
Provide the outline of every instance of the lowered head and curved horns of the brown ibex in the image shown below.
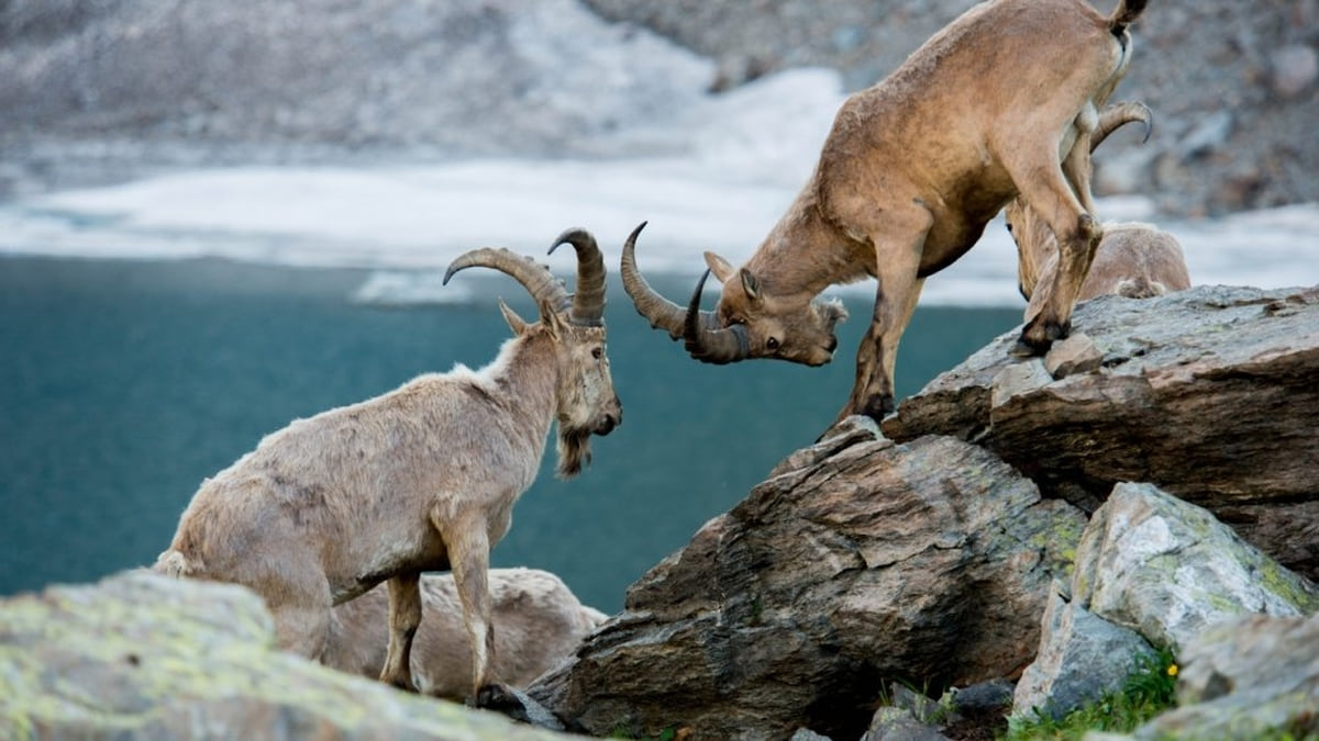
[[[735,269],[712,252],[706,253],[710,269],[696,283],[686,309],[660,295],[637,269],[636,240],[642,223],[623,247],[623,286],[637,312],[652,327],[683,339],[687,352],[703,363],[735,363],[751,357],[773,357],[823,365],[838,348],[834,327],[847,319],[838,301],[813,301],[810,293],[776,294],[774,286],[747,268]],[[723,295],[714,311],[700,310],[700,295],[710,273],[723,282]]]

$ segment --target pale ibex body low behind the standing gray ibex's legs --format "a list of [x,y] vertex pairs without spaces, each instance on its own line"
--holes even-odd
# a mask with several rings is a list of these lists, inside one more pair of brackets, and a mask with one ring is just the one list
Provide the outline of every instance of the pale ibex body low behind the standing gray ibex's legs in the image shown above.
[[[495,633],[491,670],[517,688],[572,655],[607,618],[583,605],[562,579],[547,571],[492,568],[488,583]],[[459,701],[472,696],[472,646],[452,575],[422,575],[421,597],[425,618],[412,650],[417,690]],[[388,643],[389,595],[376,587],[334,608],[323,662],[340,671],[380,676]]]

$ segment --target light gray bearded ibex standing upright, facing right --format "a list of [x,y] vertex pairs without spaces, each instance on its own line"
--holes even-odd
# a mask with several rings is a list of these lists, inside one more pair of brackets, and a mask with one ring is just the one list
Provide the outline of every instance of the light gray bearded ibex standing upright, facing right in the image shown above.
[[501,270],[532,294],[541,320],[524,322],[501,302],[517,336],[485,368],[423,374],[265,436],[202,483],[154,568],[253,589],[274,614],[280,646],[318,661],[331,608],[388,581],[380,678],[409,690],[418,579],[451,568],[476,701],[500,690],[489,668],[489,550],[536,480],[551,423],[558,472],[568,477],[590,461],[590,436],[623,421],[605,356],[603,257],[583,229],[559,244],[578,253],[572,297],[547,268],[506,249],[455,260],[445,282],[464,268]]

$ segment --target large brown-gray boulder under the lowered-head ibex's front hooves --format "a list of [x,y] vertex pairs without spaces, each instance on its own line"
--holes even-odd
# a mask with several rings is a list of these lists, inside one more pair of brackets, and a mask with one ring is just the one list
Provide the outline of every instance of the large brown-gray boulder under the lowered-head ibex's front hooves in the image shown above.
[[886,678],[1020,671],[1082,514],[976,446],[853,425],[706,523],[529,694],[596,734],[856,738]]

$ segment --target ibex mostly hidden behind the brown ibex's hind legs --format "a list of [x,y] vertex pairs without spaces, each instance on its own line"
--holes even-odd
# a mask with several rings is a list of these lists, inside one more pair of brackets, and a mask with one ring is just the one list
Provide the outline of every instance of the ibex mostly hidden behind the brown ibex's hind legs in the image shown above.
[[[1116,103],[1099,115],[1091,134],[1095,148],[1122,124],[1140,121],[1145,137],[1150,132],[1150,109],[1140,103]],[[1029,302],[1041,280],[1053,281],[1058,270],[1058,240],[1049,224],[1020,198],[1004,210],[1008,231],[1017,243],[1017,287]],[[1116,294],[1126,298],[1150,298],[1191,287],[1186,256],[1177,237],[1151,224],[1138,222],[1105,222],[1104,236],[1095,248],[1095,260],[1080,285],[1076,301]]]

